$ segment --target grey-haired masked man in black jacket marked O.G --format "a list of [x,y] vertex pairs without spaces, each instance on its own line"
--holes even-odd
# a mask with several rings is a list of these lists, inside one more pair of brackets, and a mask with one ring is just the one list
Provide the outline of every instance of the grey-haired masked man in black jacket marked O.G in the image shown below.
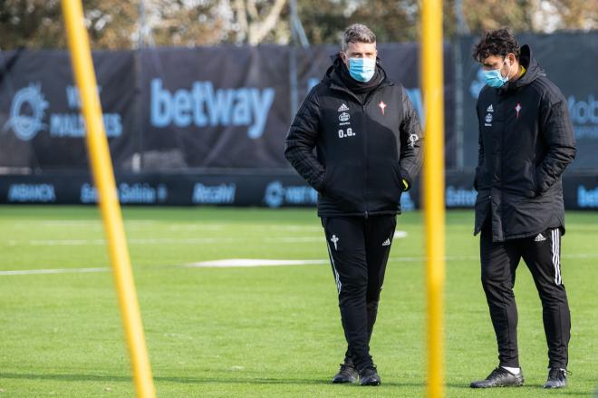
[[319,193],[348,344],[333,383],[381,383],[369,344],[400,194],[420,170],[420,142],[417,112],[378,62],[376,36],[365,25],[349,26],[342,52],[294,117],[285,149]]

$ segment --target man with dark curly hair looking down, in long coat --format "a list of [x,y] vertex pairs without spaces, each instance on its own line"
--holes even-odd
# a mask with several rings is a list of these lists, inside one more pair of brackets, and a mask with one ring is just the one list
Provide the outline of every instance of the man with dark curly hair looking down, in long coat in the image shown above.
[[481,231],[482,286],[497,335],[500,364],[472,388],[519,386],[513,286],[523,257],[542,300],[548,344],[545,388],[566,385],[571,329],[561,279],[564,235],[561,175],[575,157],[567,103],[507,29],[484,34],[474,48],[487,85],[477,100],[479,153],[475,234]]

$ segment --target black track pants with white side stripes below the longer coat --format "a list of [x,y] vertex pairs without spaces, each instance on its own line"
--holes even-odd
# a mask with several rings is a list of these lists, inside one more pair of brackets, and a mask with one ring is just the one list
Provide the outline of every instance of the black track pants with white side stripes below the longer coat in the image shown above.
[[517,307],[513,286],[517,265],[523,257],[542,300],[548,366],[566,368],[571,315],[561,280],[560,248],[561,234],[558,228],[546,229],[535,237],[505,242],[492,242],[489,223],[482,228],[482,286],[497,335],[501,366],[519,367]]

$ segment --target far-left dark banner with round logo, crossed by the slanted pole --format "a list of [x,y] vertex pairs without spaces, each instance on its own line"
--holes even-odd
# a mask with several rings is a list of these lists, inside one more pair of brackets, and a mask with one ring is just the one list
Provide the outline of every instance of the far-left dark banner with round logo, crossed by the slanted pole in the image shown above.
[[[135,144],[133,55],[97,52],[93,63],[112,159],[121,168]],[[69,54],[4,53],[0,65],[0,167],[86,169],[84,121]]]

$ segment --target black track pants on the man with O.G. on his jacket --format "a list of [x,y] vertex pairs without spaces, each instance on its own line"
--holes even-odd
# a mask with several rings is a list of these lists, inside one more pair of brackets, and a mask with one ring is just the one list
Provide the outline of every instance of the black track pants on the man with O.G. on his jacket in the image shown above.
[[351,359],[362,369],[372,364],[370,338],[396,217],[322,218],[322,224],[348,345],[345,360]]

